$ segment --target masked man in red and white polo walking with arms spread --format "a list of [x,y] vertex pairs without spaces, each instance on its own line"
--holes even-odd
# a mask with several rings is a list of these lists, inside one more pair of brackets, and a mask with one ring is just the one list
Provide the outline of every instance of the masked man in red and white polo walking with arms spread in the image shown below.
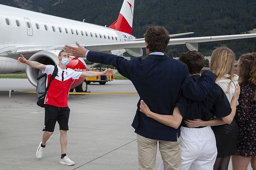
[[[107,69],[104,72],[79,72],[71,68],[66,68],[66,65],[69,62],[69,53],[63,51],[64,50],[62,50],[58,55],[60,62],[57,65],[57,76],[51,82],[51,86],[49,86],[47,95],[45,97],[45,126],[43,128],[44,134],[42,142],[40,142],[37,148],[36,157],[38,159],[43,157],[46,141],[53,134],[56,121],[58,121],[61,132],[61,160],[59,163],[73,165],[75,162],[70,160],[66,155],[68,118],[70,114],[70,109],[67,105],[67,97],[71,83],[74,79],[78,79],[79,77],[111,75],[113,74],[113,70]],[[49,82],[49,79],[54,71],[54,65],[44,65],[36,61],[29,61],[26,60],[23,55],[20,55],[18,62],[25,63],[30,67],[42,70],[42,73],[47,74],[47,83]]]

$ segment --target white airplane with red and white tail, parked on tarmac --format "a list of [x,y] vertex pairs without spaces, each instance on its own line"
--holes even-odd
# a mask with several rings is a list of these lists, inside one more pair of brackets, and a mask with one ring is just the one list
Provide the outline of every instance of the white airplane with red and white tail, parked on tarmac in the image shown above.
[[[65,44],[75,46],[77,41],[86,50],[101,51],[116,55],[128,52],[133,56],[143,55],[144,38],[131,35],[134,0],[124,0],[118,19],[109,27],[100,26],[43,13],[0,5],[0,74],[26,73],[29,82],[37,85],[37,69],[18,64],[20,54],[31,61],[43,64],[58,64],[58,53]],[[173,34],[170,37],[191,34]],[[198,50],[199,42],[255,38],[256,34],[205,36],[170,39],[168,45],[186,44],[189,50]],[[84,58],[72,57],[67,67],[87,70]],[[84,92],[84,78],[75,80],[71,89]]]

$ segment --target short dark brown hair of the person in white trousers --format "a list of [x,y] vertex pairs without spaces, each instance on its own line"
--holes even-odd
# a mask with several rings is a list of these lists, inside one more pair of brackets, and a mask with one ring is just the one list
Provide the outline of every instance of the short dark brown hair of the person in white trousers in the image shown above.
[[188,65],[190,74],[198,74],[204,66],[204,57],[198,51],[182,53],[180,61]]

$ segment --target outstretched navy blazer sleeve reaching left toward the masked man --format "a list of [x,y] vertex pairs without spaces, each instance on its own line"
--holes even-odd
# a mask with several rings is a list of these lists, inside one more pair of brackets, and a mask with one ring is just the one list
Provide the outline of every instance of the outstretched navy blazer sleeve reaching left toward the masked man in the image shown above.
[[89,51],[87,53],[86,59],[90,62],[108,64],[117,67],[118,72],[130,79],[129,66],[131,61],[126,60],[124,57],[107,54],[102,52]]

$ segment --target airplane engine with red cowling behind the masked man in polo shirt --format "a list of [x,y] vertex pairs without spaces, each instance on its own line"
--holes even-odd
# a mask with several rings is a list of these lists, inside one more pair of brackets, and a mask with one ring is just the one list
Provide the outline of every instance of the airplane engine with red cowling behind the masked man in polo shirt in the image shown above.
[[[32,55],[29,60],[37,61],[45,65],[55,65],[59,63],[58,54],[61,50],[49,50],[49,51],[39,51]],[[86,64],[82,58],[77,58],[70,56],[70,61],[66,66],[67,68],[72,68],[76,71],[87,71]],[[36,87],[37,77],[39,70],[36,68],[26,67],[26,74],[28,81]],[[79,79],[73,80],[70,89],[76,89],[76,92],[86,92],[87,83],[85,77],[80,77]]]

